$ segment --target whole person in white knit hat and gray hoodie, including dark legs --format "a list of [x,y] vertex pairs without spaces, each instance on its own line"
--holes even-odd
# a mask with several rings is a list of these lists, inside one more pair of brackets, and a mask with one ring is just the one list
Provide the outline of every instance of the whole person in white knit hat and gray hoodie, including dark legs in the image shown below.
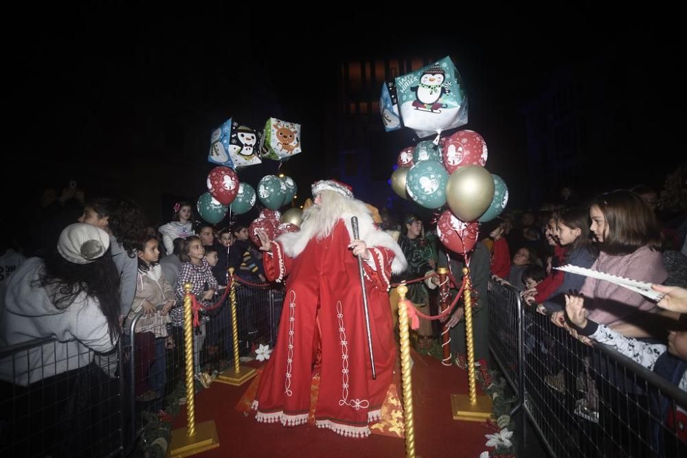
[[111,351],[119,339],[119,275],[109,246],[102,229],[69,225],[45,260],[32,257],[10,277],[0,307],[3,456],[103,456],[93,447],[111,445],[103,440],[116,428],[113,398],[104,395],[111,386],[92,363],[94,352]]

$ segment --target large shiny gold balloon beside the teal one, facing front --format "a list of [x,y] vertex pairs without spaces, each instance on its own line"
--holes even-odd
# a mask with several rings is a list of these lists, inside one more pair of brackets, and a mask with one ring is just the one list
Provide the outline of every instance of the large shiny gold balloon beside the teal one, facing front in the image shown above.
[[455,216],[470,222],[480,218],[494,198],[494,179],[481,165],[465,165],[449,176],[446,201]]

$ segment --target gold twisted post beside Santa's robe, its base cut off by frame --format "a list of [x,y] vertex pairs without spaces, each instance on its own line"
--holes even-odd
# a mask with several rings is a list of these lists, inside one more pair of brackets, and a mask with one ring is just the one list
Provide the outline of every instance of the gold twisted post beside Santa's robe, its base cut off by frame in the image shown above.
[[403,419],[405,420],[405,455],[415,458],[415,428],[413,426],[413,380],[410,365],[410,331],[405,295],[408,287],[398,286],[398,325],[401,331],[401,381],[403,383]]

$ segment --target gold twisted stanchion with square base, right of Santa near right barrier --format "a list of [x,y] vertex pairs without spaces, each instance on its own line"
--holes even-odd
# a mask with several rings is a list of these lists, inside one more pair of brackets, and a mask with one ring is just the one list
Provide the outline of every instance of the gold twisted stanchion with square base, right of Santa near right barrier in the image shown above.
[[[470,271],[467,267],[463,268],[463,275],[466,279],[465,288],[463,290],[463,301],[465,304],[465,340],[468,349],[467,365],[469,394],[452,394],[451,411],[453,411],[453,420],[482,422],[491,417],[491,398],[484,395],[477,396],[477,387],[475,385],[475,347],[473,345],[472,325],[472,284],[470,281]],[[484,310],[484,312],[486,312],[486,310]]]

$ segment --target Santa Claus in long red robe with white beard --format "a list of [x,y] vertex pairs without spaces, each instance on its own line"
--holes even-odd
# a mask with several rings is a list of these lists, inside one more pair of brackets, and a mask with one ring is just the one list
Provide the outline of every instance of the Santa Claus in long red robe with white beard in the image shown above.
[[[253,407],[258,422],[296,426],[308,421],[313,345],[321,347],[315,422],[348,437],[370,434],[381,417],[396,345],[387,291],[392,273],[407,262],[398,244],[377,229],[370,210],[350,187],[334,180],[313,185],[315,205],[301,230],[271,241],[259,233],[264,271],[284,281],[279,339],[260,379]],[[351,217],[360,238],[354,240]],[[365,328],[357,256],[363,259],[376,379]]]

